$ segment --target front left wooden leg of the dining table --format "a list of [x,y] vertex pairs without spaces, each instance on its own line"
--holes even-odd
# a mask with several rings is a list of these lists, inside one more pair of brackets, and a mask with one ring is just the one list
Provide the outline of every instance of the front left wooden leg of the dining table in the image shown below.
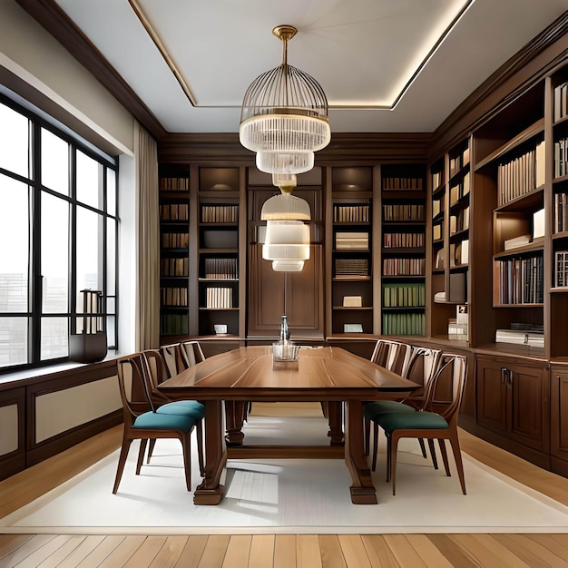
[[205,475],[193,494],[194,504],[220,504],[223,497],[220,475],[227,462],[222,402],[206,400],[205,404]]

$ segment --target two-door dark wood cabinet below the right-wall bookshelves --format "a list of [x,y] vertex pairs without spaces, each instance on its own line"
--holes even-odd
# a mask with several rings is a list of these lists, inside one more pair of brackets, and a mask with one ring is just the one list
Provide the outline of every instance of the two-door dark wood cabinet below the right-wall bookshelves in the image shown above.
[[[503,436],[502,446],[524,446],[526,455],[549,449],[550,383],[545,363],[505,357],[476,358],[477,423]],[[544,464],[547,458],[542,455]]]

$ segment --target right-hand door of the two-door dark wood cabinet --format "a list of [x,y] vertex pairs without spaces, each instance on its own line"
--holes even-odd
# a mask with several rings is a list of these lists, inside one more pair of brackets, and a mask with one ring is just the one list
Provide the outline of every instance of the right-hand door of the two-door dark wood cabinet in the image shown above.
[[511,435],[516,441],[537,450],[543,450],[547,432],[545,405],[548,405],[546,386],[542,367],[509,365]]

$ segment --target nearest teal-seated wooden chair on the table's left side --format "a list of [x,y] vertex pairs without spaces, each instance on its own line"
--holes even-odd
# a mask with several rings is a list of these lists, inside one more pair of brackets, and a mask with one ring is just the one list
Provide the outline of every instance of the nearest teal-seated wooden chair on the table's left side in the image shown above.
[[150,397],[148,381],[139,355],[117,361],[118,383],[122,398],[122,446],[113,494],[121,483],[122,472],[132,440],[140,440],[136,475],[140,475],[146,444],[157,438],[177,438],[181,442],[185,484],[191,491],[191,431],[198,419],[195,416],[157,412]]

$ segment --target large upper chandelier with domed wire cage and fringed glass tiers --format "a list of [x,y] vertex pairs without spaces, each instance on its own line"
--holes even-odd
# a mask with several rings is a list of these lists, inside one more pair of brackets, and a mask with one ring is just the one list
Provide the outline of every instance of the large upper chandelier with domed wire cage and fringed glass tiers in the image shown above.
[[282,64],[250,83],[240,112],[240,143],[257,152],[260,171],[303,173],[314,167],[314,152],[331,140],[328,99],[311,75],[287,63],[296,28],[279,25],[272,33],[283,43]]

